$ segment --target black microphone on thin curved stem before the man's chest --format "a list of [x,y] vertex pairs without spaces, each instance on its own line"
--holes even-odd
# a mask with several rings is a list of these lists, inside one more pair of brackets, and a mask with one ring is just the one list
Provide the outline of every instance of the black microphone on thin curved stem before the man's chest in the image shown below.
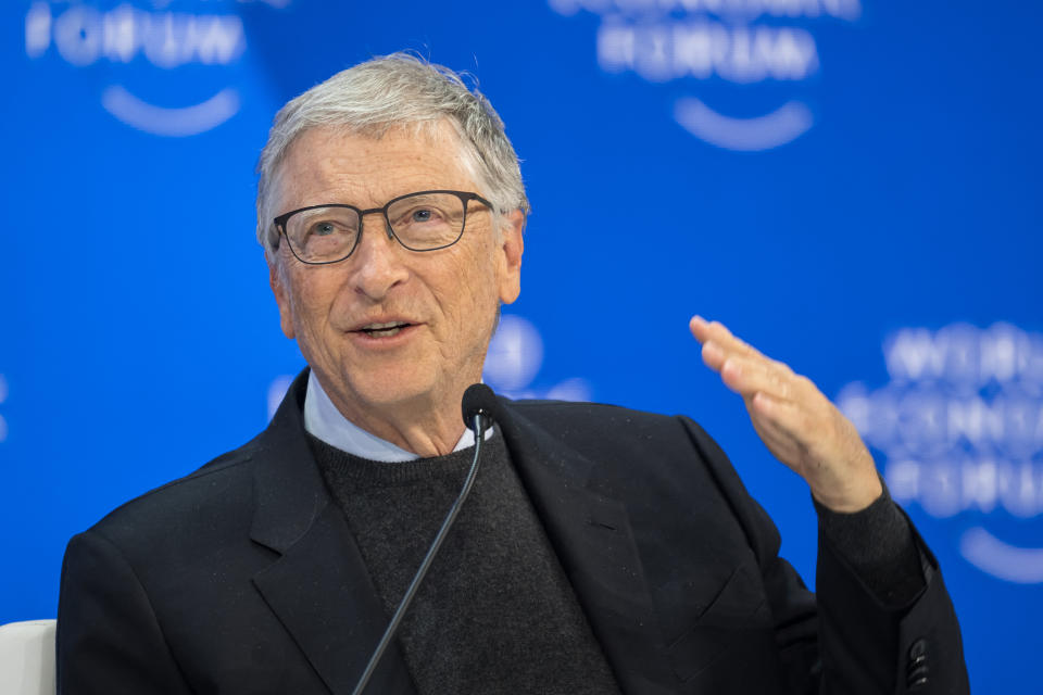
[[399,602],[399,607],[391,617],[391,622],[388,623],[387,630],[384,631],[384,636],[380,637],[377,648],[373,650],[373,656],[369,657],[369,662],[366,664],[366,668],[362,672],[362,677],[359,679],[355,690],[352,691],[352,695],[362,695],[362,692],[366,688],[366,684],[369,682],[369,679],[373,678],[373,672],[377,669],[377,664],[380,662],[380,657],[384,656],[384,653],[387,650],[391,640],[394,639],[395,632],[399,631],[399,624],[401,624],[402,618],[405,617],[405,611],[409,609],[410,604],[413,603],[413,597],[416,595],[416,590],[420,587],[420,582],[423,582],[424,578],[427,576],[427,570],[430,569],[431,563],[435,560],[435,556],[438,554],[438,548],[442,546],[442,541],[444,541],[445,536],[449,535],[449,530],[456,520],[456,516],[460,514],[460,508],[463,506],[464,500],[466,500],[467,495],[470,493],[470,489],[475,484],[475,478],[478,477],[478,454],[481,453],[481,442],[486,439],[486,430],[492,427],[493,422],[495,421],[493,414],[499,413],[499,408],[500,405],[497,402],[495,394],[492,392],[492,389],[486,384],[473,383],[467,387],[466,391],[464,391],[464,397],[461,402],[460,409],[464,416],[464,425],[466,425],[467,428],[475,433],[475,457],[470,462],[470,470],[467,471],[467,478],[464,479],[464,486],[456,496],[456,502],[454,502],[453,506],[450,507],[449,514],[445,515],[445,520],[442,521],[442,527],[435,535],[435,540],[431,541],[431,546],[427,548],[427,555],[424,556],[424,561],[420,563],[419,569],[417,569],[416,574],[413,576],[413,581],[410,582],[410,587],[405,590],[402,601]]

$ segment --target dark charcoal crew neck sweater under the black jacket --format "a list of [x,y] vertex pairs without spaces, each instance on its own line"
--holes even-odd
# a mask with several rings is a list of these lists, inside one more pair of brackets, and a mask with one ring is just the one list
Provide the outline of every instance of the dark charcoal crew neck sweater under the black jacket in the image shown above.
[[[390,620],[474,447],[388,464],[309,442]],[[420,695],[619,692],[499,432],[397,639]]]

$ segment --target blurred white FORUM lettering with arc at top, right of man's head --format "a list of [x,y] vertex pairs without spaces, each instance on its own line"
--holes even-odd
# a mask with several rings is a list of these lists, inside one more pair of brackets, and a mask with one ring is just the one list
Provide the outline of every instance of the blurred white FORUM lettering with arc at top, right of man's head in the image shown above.
[[[558,14],[601,16],[598,63],[653,83],[694,78],[736,85],[801,83],[819,67],[815,37],[783,23],[854,22],[862,0],[549,0]],[[737,117],[694,97],[674,118],[695,137],[728,150],[758,151],[792,142],[814,125],[810,109],[788,99],[768,113]]]

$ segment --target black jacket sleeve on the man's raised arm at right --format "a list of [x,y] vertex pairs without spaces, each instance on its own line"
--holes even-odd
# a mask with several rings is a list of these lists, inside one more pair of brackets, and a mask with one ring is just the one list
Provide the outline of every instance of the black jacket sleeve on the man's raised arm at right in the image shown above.
[[817,695],[963,695],[970,692],[959,624],[934,556],[913,529],[926,586],[887,606],[819,536],[817,594],[778,556],[779,534],[720,447],[686,426],[746,531],[776,629],[788,692]]

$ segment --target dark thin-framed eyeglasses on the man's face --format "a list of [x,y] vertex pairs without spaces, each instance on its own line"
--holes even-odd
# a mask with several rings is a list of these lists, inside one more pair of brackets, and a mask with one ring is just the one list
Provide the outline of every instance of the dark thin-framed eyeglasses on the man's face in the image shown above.
[[464,233],[467,204],[492,203],[478,193],[419,191],[400,195],[384,207],[360,210],[354,205],[311,205],[275,218],[275,226],[301,263],[323,265],[350,256],[362,239],[364,215],[381,213],[388,237],[410,251],[438,251],[451,247]]

